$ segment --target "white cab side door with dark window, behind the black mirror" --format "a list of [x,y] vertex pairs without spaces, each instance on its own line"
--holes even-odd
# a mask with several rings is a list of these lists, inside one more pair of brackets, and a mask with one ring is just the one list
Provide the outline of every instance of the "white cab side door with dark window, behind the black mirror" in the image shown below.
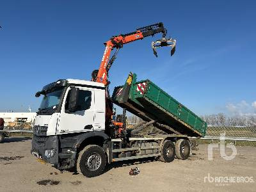
[[86,87],[78,87],[79,108],[75,112],[67,111],[67,102],[70,93],[68,88],[63,106],[61,108],[60,122],[57,128],[57,134],[93,131],[95,116],[95,91]]

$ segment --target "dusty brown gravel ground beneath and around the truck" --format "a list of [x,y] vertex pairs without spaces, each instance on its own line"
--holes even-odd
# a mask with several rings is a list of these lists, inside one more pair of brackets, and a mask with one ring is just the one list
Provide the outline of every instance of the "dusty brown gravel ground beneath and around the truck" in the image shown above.
[[[200,145],[186,161],[113,163],[103,175],[91,179],[38,162],[30,148],[30,138],[0,143],[0,191],[256,191],[256,147],[237,147],[231,161],[221,158],[216,148],[209,161],[207,145]],[[130,176],[135,166],[141,172]],[[211,182],[212,177],[226,177],[225,181],[245,177],[245,182]],[[248,182],[249,177],[253,182]]]

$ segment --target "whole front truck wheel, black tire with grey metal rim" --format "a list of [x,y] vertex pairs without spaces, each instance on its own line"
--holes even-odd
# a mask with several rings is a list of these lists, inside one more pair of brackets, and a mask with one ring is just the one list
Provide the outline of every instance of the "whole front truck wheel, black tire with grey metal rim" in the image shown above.
[[106,154],[98,145],[88,145],[79,152],[76,168],[77,172],[86,177],[100,175],[106,166]]

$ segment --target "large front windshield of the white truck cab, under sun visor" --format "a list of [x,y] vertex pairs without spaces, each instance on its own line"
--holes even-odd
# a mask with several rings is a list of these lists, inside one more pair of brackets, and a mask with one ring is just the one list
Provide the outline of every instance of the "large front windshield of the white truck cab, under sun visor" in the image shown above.
[[60,97],[62,95],[62,92],[63,89],[56,90],[54,92],[44,95],[39,109],[55,109],[60,103]]

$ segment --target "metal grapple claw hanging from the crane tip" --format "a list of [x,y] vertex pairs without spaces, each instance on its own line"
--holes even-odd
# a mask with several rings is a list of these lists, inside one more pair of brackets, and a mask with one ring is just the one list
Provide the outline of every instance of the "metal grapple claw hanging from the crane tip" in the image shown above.
[[175,52],[176,40],[174,40],[172,38],[164,38],[163,37],[163,38],[157,40],[156,42],[152,42],[151,45],[152,45],[154,55],[156,57],[157,57],[156,48],[158,48],[158,47],[172,47],[171,48],[171,56],[172,56]]

